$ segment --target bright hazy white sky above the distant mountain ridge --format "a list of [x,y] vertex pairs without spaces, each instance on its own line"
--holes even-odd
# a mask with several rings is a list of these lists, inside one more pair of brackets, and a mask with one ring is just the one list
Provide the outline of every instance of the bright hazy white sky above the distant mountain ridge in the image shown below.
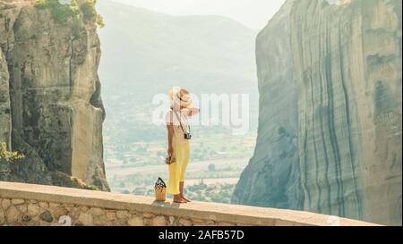
[[285,0],[114,0],[172,15],[227,16],[253,29],[262,29]]

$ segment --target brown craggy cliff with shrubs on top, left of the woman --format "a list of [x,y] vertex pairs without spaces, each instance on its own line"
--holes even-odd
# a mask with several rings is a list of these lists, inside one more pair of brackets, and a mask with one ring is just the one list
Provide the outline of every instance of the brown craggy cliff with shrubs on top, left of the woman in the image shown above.
[[[34,171],[49,173],[42,183],[62,185],[70,183],[58,176],[73,175],[107,190],[97,26],[82,18],[79,23],[73,18],[56,21],[52,10],[39,9],[34,2],[0,3],[0,46],[5,56],[0,58],[0,139],[29,155],[27,164],[37,162],[35,170],[14,167],[8,175],[14,181],[32,182]],[[11,141],[9,131],[3,130],[8,123]]]

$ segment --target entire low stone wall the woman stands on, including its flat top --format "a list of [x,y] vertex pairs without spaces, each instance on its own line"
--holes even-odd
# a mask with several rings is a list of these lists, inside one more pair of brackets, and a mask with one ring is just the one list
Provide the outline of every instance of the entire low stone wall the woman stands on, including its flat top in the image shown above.
[[2,225],[373,225],[328,215],[193,202],[185,205],[85,189],[0,181]]

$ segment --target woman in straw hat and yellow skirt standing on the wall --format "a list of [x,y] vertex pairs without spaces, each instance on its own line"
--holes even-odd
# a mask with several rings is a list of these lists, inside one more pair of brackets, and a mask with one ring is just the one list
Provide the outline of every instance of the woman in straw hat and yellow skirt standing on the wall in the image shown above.
[[171,108],[167,112],[167,154],[173,158],[169,164],[169,179],[167,194],[174,196],[174,202],[187,203],[184,197],[184,172],[190,159],[190,126],[187,118],[200,113],[199,108],[193,107],[193,102],[187,90],[172,89],[169,91]]

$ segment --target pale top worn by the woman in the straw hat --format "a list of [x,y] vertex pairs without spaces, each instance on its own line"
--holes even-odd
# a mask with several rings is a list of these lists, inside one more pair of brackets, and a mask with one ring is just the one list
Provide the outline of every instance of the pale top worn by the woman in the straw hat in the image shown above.
[[[174,126],[174,138],[172,140],[172,144],[173,145],[182,145],[184,143],[188,143],[189,140],[188,139],[184,139],[184,131],[189,133],[189,125],[190,123],[187,120],[187,114],[190,113],[190,110],[187,108],[184,108],[180,111],[176,111],[176,113],[174,113],[174,111],[172,109],[169,109],[166,115],[166,122],[167,125],[172,124]],[[182,123],[182,127],[184,128],[184,130],[182,130],[181,127],[181,123]]]

